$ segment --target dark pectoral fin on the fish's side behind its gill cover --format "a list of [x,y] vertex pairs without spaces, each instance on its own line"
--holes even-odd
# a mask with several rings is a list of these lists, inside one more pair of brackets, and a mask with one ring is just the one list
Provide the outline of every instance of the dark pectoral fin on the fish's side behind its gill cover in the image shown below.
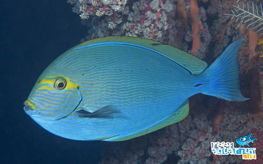
[[112,113],[120,113],[119,110],[117,110],[114,105],[106,105],[94,112],[88,112],[85,110],[79,110],[76,112],[79,117],[89,117],[89,118],[94,118],[94,117],[105,117],[108,116],[109,114]]

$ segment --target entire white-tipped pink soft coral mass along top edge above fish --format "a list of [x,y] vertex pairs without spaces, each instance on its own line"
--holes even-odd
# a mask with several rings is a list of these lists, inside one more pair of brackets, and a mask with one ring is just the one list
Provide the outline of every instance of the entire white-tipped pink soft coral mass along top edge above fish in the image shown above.
[[160,40],[162,30],[169,27],[167,14],[173,9],[169,0],[141,0],[126,6],[127,0],[68,0],[73,4],[73,12],[79,13],[81,19],[89,16],[109,16],[108,27],[116,28],[123,19],[121,31],[127,36]]

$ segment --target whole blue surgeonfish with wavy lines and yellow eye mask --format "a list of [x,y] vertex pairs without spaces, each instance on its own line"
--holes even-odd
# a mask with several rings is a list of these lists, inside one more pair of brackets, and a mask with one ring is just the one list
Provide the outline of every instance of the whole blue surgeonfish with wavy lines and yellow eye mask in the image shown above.
[[44,129],[73,140],[124,141],[177,123],[202,93],[244,101],[231,43],[207,63],[154,40],[88,40],[56,58],[38,78],[24,111]]

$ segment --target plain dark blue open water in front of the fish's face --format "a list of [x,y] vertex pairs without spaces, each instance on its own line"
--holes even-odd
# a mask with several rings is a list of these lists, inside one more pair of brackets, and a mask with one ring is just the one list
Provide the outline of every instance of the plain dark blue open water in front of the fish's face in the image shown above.
[[[4,3],[4,4],[3,4]],[[0,163],[97,163],[106,142],[55,136],[23,111],[41,72],[87,33],[65,0],[1,3]]]

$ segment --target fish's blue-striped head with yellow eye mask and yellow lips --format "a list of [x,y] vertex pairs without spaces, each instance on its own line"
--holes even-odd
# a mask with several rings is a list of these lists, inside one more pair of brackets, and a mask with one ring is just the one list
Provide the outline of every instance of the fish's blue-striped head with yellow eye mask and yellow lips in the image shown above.
[[69,76],[44,71],[24,102],[24,111],[32,119],[58,120],[71,114],[81,100],[79,86]]

